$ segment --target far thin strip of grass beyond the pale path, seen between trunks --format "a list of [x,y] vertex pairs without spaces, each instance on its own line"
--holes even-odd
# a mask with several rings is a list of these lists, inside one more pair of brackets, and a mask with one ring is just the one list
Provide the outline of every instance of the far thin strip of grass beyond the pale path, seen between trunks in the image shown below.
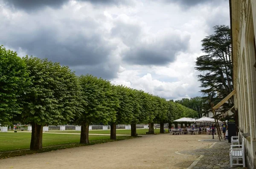
[[[165,129],[168,131],[168,129]],[[52,131],[49,131],[52,132]],[[57,131],[57,132],[62,132],[62,133],[81,133],[80,131]],[[137,129],[137,134],[138,135],[145,135],[146,132],[148,132],[148,129]],[[154,129],[155,133],[160,133],[160,129]],[[89,134],[110,134],[110,130],[90,130]],[[131,130],[116,130],[117,135],[130,135]]]

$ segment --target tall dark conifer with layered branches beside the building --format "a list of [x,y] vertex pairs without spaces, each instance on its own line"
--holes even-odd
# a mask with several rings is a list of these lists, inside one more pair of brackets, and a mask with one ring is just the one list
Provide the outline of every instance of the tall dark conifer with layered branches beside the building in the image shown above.
[[[225,25],[214,26],[215,34],[205,37],[202,42],[202,51],[205,55],[196,60],[195,69],[202,74],[198,75],[205,100],[205,113],[211,112],[213,105],[220,102],[233,91],[231,60],[230,28]],[[227,112],[234,105],[233,97],[218,109],[218,112]]]

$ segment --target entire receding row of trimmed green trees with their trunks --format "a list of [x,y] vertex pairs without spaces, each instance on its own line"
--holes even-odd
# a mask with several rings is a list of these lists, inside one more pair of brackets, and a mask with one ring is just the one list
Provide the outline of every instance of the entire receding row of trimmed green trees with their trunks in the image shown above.
[[197,117],[197,112],[173,101],[141,90],[116,86],[92,75],[77,77],[67,66],[37,57],[17,56],[0,46],[0,123],[20,121],[32,126],[30,149],[42,148],[43,126],[74,123],[81,125],[80,143],[89,143],[91,123],[163,124],[180,117]]

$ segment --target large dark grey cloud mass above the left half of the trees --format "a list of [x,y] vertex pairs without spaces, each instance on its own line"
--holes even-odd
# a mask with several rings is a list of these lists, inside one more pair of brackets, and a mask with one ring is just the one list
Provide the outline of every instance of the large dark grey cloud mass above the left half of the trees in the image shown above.
[[82,66],[84,71],[77,71],[80,74],[93,73],[108,79],[116,77],[119,63],[108,64],[116,47],[97,31],[98,23],[90,18],[70,22],[69,18],[52,20],[47,14],[44,17],[47,19],[24,17],[12,23],[3,17],[0,44],[16,51],[21,48],[28,55],[48,58],[62,65]]

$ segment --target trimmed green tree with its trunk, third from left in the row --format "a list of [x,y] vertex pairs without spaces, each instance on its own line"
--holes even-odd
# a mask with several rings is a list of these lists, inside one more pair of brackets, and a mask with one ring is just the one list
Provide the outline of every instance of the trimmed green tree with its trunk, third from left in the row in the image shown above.
[[79,77],[79,83],[83,105],[81,116],[77,119],[77,123],[81,124],[80,143],[89,143],[89,124],[116,121],[116,107],[119,102],[107,80],[87,74]]

